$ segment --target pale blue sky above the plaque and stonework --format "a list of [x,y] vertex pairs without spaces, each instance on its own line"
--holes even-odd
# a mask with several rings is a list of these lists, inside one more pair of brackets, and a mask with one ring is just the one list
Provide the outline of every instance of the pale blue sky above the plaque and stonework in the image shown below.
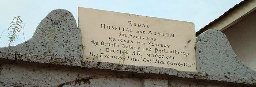
[[[189,21],[196,32],[214,21],[242,0],[0,0],[0,47],[8,44],[8,31],[13,17],[27,22],[13,45],[29,40],[37,25],[52,10],[70,11],[78,22],[78,7],[138,14],[142,16]],[[77,23],[78,24],[78,23]],[[3,33],[2,33],[3,32]],[[24,40],[25,38],[25,40]]]

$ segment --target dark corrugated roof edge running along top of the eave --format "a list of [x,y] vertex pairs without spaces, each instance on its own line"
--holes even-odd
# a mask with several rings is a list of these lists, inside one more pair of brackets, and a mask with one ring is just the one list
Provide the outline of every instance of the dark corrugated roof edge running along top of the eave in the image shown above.
[[205,29],[206,27],[210,26],[211,24],[213,24],[214,22],[218,21],[219,19],[221,19],[223,16],[225,16],[227,13],[231,12],[233,9],[236,9],[239,5],[241,5],[242,3],[244,3],[246,0],[241,1],[240,3],[234,5],[234,7],[230,8],[228,11],[226,11],[225,13],[223,13],[221,16],[219,16],[217,19],[215,19],[214,21],[210,22],[208,25],[205,25],[203,28],[201,28],[199,31],[196,32],[196,37],[199,36],[199,34],[203,33],[204,31],[206,31],[207,29]]

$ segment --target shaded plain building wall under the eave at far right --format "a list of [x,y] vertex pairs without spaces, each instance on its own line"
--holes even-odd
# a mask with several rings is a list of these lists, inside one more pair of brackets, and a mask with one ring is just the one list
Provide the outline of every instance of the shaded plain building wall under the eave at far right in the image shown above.
[[256,70],[256,12],[253,12],[223,33],[242,62]]

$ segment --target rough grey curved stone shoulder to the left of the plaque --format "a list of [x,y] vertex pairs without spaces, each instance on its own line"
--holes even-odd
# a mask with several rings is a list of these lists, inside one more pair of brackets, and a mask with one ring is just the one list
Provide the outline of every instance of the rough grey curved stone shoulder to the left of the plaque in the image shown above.
[[[80,45],[82,34],[74,16],[67,10],[56,9],[39,23],[30,40],[11,46],[9,51],[79,59],[82,57]],[[8,51],[8,47],[0,50]]]

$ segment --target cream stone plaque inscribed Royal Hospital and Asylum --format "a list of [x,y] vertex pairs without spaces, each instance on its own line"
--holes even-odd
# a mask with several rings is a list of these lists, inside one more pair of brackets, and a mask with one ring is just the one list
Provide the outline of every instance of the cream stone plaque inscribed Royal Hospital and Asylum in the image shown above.
[[192,22],[78,8],[83,58],[196,71]]

